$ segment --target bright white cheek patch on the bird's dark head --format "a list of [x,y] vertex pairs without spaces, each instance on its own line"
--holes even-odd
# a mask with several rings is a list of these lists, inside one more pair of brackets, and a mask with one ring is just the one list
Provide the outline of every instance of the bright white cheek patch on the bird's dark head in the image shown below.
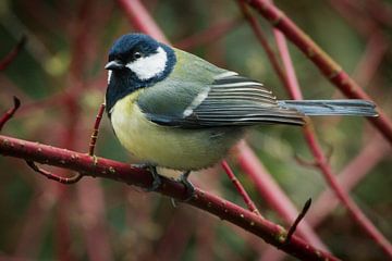
[[134,62],[127,63],[125,66],[134,72],[139,79],[150,79],[161,73],[163,73],[168,55],[163,48],[158,47],[157,53],[139,58]]

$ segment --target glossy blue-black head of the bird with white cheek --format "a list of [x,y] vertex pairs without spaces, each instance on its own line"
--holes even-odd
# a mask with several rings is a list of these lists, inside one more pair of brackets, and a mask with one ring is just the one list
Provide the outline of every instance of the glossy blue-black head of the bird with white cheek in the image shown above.
[[120,37],[109,51],[108,109],[126,95],[168,77],[175,65],[174,50],[150,36],[128,34]]

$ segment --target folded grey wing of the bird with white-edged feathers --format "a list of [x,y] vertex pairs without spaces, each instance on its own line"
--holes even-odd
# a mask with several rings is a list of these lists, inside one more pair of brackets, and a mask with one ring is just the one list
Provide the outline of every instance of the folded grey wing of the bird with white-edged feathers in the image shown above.
[[157,124],[182,128],[304,124],[304,114],[280,107],[262,84],[230,72],[218,75],[212,84],[194,94],[186,107],[164,114],[144,112]]

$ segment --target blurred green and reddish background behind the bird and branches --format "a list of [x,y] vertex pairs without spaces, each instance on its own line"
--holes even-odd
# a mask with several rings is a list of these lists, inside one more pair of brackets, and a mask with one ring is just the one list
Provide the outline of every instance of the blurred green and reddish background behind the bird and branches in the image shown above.
[[[179,47],[185,47],[184,39],[191,36],[230,23],[223,34],[199,45],[193,42],[186,50],[258,79],[277,97],[287,98],[235,1],[142,2]],[[363,13],[345,10],[345,2],[354,2]],[[275,1],[391,115],[391,24],[379,22],[368,9],[369,2],[372,1]],[[390,1],[375,2],[384,4],[385,12],[392,9]],[[269,24],[259,21],[275,48]],[[22,101],[22,109],[2,134],[87,151],[95,115],[103,101],[108,49],[115,38],[128,32],[134,32],[134,27],[115,1],[0,1],[0,59],[22,35],[28,39],[12,64],[0,72],[1,112],[12,107],[12,96]],[[290,45],[290,50],[305,98],[342,98],[294,46]],[[314,124],[324,151],[332,151],[330,163],[336,173],[370,145],[368,154],[380,154],[352,196],[391,240],[389,145],[364,119],[315,119]],[[326,189],[316,169],[295,160],[297,156],[311,161],[301,128],[260,126],[249,133],[247,140],[298,209],[309,197],[317,199]],[[115,139],[107,117],[96,153],[134,162]],[[230,163],[260,212],[287,226],[252,181],[241,174],[233,158]],[[258,260],[268,248],[260,239],[197,209],[186,204],[173,208],[169,198],[113,181],[86,177],[76,185],[63,186],[34,173],[23,161],[4,157],[0,157],[0,176],[1,260]],[[192,179],[243,206],[219,166],[194,174]],[[342,259],[384,258],[341,207],[316,232]]]

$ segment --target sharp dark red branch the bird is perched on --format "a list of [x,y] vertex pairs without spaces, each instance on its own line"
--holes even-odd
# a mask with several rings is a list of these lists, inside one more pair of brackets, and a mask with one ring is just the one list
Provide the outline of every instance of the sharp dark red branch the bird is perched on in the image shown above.
[[[144,188],[152,185],[152,177],[146,170],[109,159],[94,158],[88,154],[12,137],[0,136],[0,154],[60,166],[83,172],[85,175],[110,178]],[[158,192],[179,200],[187,197],[183,184],[164,177],[162,177],[162,186]],[[302,260],[338,260],[335,257],[311,247],[295,236],[292,237],[289,244],[284,244],[286,231],[281,226],[198,188],[196,188],[195,196],[186,203],[241,226]]]

